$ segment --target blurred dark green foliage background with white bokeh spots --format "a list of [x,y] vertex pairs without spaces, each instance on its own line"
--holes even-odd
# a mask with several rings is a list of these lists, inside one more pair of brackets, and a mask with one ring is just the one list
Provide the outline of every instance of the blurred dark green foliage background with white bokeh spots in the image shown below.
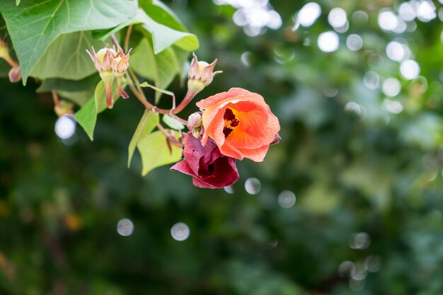
[[442,2],[165,1],[224,71],[197,99],[280,119],[225,190],[127,169],[137,100],[89,141],[1,79],[0,294],[443,294]]

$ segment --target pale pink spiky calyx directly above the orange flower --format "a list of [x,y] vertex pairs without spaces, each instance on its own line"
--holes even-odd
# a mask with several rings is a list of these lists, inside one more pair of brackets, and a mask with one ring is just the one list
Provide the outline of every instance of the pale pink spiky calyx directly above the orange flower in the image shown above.
[[217,59],[212,64],[208,64],[207,62],[199,62],[197,56],[192,55],[194,58],[188,74],[188,89],[198,93],[212,82],[216,74],[222,73],[222,71],[214,71]]

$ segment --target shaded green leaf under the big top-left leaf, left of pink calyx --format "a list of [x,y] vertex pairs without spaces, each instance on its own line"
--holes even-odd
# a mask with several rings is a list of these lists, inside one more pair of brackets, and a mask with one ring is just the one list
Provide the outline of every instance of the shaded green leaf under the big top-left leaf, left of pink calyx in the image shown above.
[[91,32],[59,35],[51,43],[30,76],[38,79],[79,80],[95,73],[96,67],[86,49],[105,47],[105,42],[94,40]]

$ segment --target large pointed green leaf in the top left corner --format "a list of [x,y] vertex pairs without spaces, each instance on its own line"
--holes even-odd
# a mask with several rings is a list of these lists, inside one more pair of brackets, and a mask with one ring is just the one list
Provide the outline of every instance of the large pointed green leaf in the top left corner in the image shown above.
[[114,28],[137,13],[137,1],[29,0],[16,6],[0,0],[14,50],[21,65],[23,84],[57,36],[81,30]]

